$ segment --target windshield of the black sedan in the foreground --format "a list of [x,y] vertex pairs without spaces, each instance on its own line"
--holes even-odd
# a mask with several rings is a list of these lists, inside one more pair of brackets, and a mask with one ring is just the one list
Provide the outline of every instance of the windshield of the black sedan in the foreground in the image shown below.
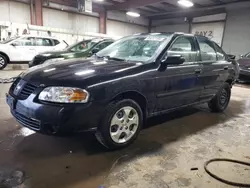
[[170,34],[133,35],[122,38],[101,50],[97,57],[124,61],[148,62],[157,50],[170,39]]

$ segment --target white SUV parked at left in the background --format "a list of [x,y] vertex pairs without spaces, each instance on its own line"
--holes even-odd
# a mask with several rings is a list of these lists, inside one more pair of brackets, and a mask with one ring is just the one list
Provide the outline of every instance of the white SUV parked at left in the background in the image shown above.
[[37,54],[62,50],[68,44],[53,37],[23,35],[0,43],[0,70],[8,63],[29,62]]

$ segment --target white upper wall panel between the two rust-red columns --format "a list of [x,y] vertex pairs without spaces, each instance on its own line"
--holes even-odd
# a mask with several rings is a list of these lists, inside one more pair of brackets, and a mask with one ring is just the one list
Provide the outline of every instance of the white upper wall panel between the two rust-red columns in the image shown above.
[[[53,19],[52,19],[53,18]],[[99,18],[43,8],[45,27],[71,29],[75,32],[99,32]]]

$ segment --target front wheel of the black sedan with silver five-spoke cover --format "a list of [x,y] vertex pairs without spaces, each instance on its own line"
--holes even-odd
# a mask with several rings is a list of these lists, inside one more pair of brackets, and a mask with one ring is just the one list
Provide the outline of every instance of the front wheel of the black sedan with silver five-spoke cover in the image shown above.
[[[123,99],[112,102],[105,111],[95,134],[97,140],[110,150],[120,149],[133,143],[143,124],[141,107],[131,99]],[[112,133],[116,136],[113,136]]]

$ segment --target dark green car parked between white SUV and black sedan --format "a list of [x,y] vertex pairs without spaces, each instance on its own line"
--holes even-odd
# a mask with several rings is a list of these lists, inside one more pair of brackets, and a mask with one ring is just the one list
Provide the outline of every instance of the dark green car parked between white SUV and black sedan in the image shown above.
[[63,59],[90,57],[100,50],[112,44],[112,39],[91,39],[84,40],[69,46],[63,51],[52,51],[38,54],[29,63],[29,67],[40,65],[43,63],[52,63]]

